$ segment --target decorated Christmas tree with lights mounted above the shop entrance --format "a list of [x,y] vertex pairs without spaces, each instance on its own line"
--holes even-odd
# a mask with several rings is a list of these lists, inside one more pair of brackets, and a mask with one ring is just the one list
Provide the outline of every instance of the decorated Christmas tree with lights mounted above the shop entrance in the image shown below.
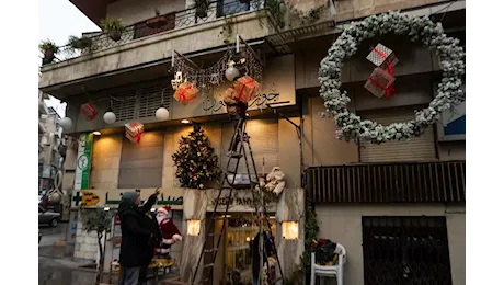
[[214,153],[210,141],[199,126],[187,137],[179,140],[179,150],[172,156],[176,166],[176,179],[182,187],[204,189],[205,183],[219,179],[219,158]]

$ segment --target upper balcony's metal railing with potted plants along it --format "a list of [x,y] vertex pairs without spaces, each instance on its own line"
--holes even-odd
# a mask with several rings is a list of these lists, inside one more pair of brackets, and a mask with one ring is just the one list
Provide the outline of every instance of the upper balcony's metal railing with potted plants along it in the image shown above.
[[209,3],[206,15],[198,13],[196,8],[190,8],[182,11],[164,14],[164,18],[168,20],[168,24],[159,29],[148,27],[147,20],[126,26],[125,31],[122,33],[121,39],[117,42],[111,39],[107,34],[102,32],[88,33],[88,35],[83,36],[91,38],[91,47],[79,50],[71,47],[70,45],[62,46],[60,48],[60,54],[58,54],[56,60],[51,64],[121,46],[150,35],[170,33],[172,31],[199,25],[231,15],[237,15],[239,13],[263,10],[263,0],[251,0],[248,3],[241,3],[239,0],[213,1]]

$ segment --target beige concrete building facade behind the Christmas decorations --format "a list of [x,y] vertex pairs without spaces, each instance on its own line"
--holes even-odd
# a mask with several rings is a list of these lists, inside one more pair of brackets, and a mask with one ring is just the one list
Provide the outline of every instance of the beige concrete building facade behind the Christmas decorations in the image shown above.
[[[286,173],[287,189],[279,202],[284,204],[271,208],[272,215],[276,213],[272,218],[276,235],[282,236],[283,223],[299,221],[297,240],[277,239],[284,274],[293,273],[303,251],[305,223],[305,200],[293,203],[286,196],[306,194],[318,214],[319,237],[340,242],[347,250],[345,284],[392,284],[391,280],[405,277],[417,278],[417,284],[465,284],[465,141],[453,140],[447,124],[433,126],[406,142],[337,140],[333,121],[320,117],[324,105],[318,92],[320,60],[350,21],[401,9],[443,21],[445,31],[462,39],[463,45],[465,1],[342,0],[333,2],[333,15],[325,0],[290,0],[285,13],[274,9],[272,3],[280,2],[276,0],[266,1],[266,5],[262,1],[219,0],[209,3],[204,16],[196,15],[202,11],[192,0],[71,2],[95,23],[119,18],[126,25],[119,41],[111,41],[106,34],[91,36],[90,50],[41,69],[41,90],[67,102],[72,126],[66,134],[79,139],[77,146],[68,148],[64,181],[64,189],[73,189],[76,212],[70,217],[72,230],[67,243],[75,244],[76,258],[93,260],[98,252],[96,240],[81,230],[78,219],[77,206],[83,195],[80,190],[95,196],[92,206],[113,209],[124,191],[141,189],[142,198],[147,198],[161,187],[163,201],[172,205],[173,218],[184,232],[187,220],[196,215],[204,219],[211,212],[211,200],[203,196],[214,195],[215,190],[181,189],[171,156],[177,150],[177,139],[192,129],[182,121],[193,121],[206,130],[220,163],[227,161],[232,124],[225,109],[219,107],[218,95],[230,83],[181,104],[171,89],[170,80],[176,71],[172,55],[183,55],[176,60],[190,59],[198,68],[208,68],[234,48],[227,43],[234,45],[238,34],[265,62],[262,93],[278,94],[264,96],[264,101],[276,102],[275,107],[285,115],[267,110],[263,102],[251,109],[248,122],[254,157],[264,161],[259,171],[267,173],[279,167]],[[156,9],[167,23],[161,29],[149,29],[147,21],[156,16]],[[374,98],[363,87],[373,70],[365,59],[367,47],[379,42],[401,60],[394,68],[398,83],[389,100]],[[435,54],[394,36],[364,45],[345,62],[342,76],[354,111],[382,124],[411,119],[413,111],[435,95],[440,79]],[[245,48],[243,43],[241,48]],[[87,103],[96,111],[92,119],[80,112]],[[169,110],[165,122],[154,116],[161,104]],[[102,117],[111,109],[116,121],[106,124]],[[138,145],[124,135],[124,125],[133,119],[146,128]],[[291,123],[300,126],[300,137]],[[207,212],[196,213],[201,208]],[[230,215],[241,217],[252,210],[247,205],[233,205]],[[236,233],[237,228],[227,225],[214,267],[215,284],[230,282],[230,273],[237,269],[242,269],[242,282],[250,282],[250,263],[240,258],[248,254],[245,241],[250,236]],[[208,230],[215,229],[203,227],[199,236]],[[250,230],[252,235],[256,229]],[[106,241],[106,262],[117,256],[114,240]],[[175,246],[172,254],[181,261],[184,276],[196,262],[197,254],[191,249],[202,246],[201,240],[190,242]]]

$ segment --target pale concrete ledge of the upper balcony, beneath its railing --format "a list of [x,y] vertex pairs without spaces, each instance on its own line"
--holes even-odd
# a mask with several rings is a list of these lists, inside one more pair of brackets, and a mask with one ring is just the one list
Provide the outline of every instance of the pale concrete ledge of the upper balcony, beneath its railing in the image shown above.
[[[248,42],[274,33],[272,23],[271,15],[262,11],[236,16],[236,30],[247,31],[242,37]],[[112,83],[117,86],[117,80],[135,82],[152,78],[153,75],[167,76],[168,65],[162,64],[171,60],[172,49],[186,55],[222,47],[222,37],[219,35],[224,25],[226,20],[219,19],[43,66],[39,89],[64,99],[82,93],[82,86],[103,89]]]

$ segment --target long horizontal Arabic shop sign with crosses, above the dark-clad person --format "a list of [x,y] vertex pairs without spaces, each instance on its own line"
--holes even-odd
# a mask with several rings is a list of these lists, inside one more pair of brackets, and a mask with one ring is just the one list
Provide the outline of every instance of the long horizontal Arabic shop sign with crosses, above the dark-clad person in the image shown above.
[[[72,207],[84,206],[108,206],[117,207],[121,203],[123,192],[134,190],[93,190],[91,191],[73,191],[72,192]],[[141,203],[147,201],[149,196],[154,193],[154,189],[146,189],[140,191]],[[171,206],[173,208],[182,208],[183,192],[182,189],[167,189],[161,190],[158,201],[154,206]]]

